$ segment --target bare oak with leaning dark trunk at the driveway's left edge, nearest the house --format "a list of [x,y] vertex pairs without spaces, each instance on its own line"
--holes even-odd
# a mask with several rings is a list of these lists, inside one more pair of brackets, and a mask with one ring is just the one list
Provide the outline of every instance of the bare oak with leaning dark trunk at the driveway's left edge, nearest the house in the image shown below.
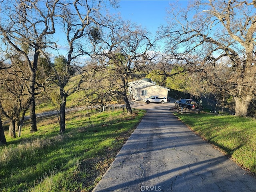
[[140,26],[116,18],[106,20],[100,28],[102,36],[94,41],[94,56],[98,63],[108,68],[108,75],[115,81],[112,93],[120,96],[126,105],[127,114],[132,109],[127,97],[128,79],[146,60],[149,60],[152,40]]

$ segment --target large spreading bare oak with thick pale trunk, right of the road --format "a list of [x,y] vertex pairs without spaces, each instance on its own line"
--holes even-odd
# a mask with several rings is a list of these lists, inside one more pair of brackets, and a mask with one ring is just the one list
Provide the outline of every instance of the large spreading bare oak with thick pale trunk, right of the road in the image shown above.
[[209,85],[230,94],[236,116],[246,116],[256,96],[256,2],[190,2],[170,11],[162,28],[168,51],[188,71],[201,72]]

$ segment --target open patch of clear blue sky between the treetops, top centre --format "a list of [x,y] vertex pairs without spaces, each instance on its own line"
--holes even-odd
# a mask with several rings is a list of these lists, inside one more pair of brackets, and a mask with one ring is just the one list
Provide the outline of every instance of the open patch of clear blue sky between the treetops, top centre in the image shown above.
[[170,3],[178,3],[187,6],[188,1],[174,0],[121,0],[120,8],[111,10],[113,13],[120,13],[124,20],[131,20],[134,23],[146,27],[153,35],[158,26],[166,24],[167,9]]

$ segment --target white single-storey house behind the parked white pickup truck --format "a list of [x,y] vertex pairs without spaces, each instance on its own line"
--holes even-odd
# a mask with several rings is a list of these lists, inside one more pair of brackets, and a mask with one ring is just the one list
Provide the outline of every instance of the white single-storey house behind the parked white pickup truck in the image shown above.
[[152,95],[167,98],[170,91],[168,88],[152,83],[150,79],[133,81],[128,83],[128,86],[128,92],[134,100],[143,100]]

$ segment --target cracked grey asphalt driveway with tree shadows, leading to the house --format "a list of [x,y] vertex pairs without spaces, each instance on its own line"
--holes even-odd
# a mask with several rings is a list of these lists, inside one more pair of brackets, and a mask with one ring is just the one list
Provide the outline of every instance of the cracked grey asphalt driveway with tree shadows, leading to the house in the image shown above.
[[93,192],[256,192],[256,178],[190,131],[174,104],[147,110]]

